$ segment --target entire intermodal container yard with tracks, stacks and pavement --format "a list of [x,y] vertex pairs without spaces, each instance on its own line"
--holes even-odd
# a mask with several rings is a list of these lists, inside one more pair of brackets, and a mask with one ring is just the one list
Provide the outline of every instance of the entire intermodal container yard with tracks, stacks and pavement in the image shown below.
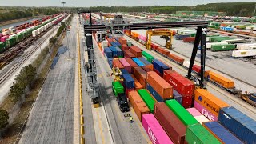
[[16,75],[66,25],[15,143],[256,143],[256,21],[248,20],[78,10],[2,30],[5,102]]

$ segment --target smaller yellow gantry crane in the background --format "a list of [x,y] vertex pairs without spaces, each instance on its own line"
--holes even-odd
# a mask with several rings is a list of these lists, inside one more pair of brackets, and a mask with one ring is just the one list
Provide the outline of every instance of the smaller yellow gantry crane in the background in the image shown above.
[[166,48],[172,48],[172,30],[146,30],[146,49],[151,50],[151,37],[152,36],[165,36],[166,38]]

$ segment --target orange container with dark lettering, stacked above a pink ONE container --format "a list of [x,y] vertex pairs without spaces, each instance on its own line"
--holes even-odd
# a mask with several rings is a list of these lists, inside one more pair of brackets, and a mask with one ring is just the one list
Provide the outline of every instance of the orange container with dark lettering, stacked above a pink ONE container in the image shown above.
[[209,110],[212,114],[218,116],[218,111],[222,107],[229,106],[226,102],[210,94],[209,91],[204,89],[194,90],[194,100],[200,105]]

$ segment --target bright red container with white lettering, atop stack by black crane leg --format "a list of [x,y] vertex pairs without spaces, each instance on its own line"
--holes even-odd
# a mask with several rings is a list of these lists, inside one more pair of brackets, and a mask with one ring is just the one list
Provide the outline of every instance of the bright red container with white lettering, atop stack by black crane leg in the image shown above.
[[163,78],[166,82],[170,83],[179,94],[182,94],[183,97],[192,96],[194,94],[194,83],[181,74],[178,74],[176,71],[164,70]]

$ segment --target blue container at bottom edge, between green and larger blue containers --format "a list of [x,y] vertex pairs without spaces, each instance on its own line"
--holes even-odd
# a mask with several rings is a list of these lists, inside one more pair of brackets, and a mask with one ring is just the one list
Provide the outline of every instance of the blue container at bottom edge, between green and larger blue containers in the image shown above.
[[222,142],[227,144],[242,144],[238,138],[236,138],[230,133],[229,130],[226,130],[226,128],[218,122],[205,122],[204,125],[206,126],[207,130],[210,130],[214,136],[222,140]]

